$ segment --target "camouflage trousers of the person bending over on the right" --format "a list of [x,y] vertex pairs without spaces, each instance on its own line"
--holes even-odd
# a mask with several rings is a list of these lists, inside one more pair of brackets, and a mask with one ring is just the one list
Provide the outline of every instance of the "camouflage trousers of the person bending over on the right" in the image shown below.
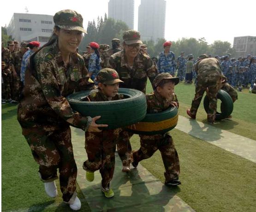
[[221,88],[220,79],[221,77],[219,75],[209,75],[209,77],[202,77],[200,75],[197,76],[198,82],[196,84],[196,94],[192,100],[190,109],[192,115],[196,116],[196,112],[201,103],[202,96],[208,88],[209,109],[207,113],[207,119],[208,122],[214,122],[217,110],[217,94]]

